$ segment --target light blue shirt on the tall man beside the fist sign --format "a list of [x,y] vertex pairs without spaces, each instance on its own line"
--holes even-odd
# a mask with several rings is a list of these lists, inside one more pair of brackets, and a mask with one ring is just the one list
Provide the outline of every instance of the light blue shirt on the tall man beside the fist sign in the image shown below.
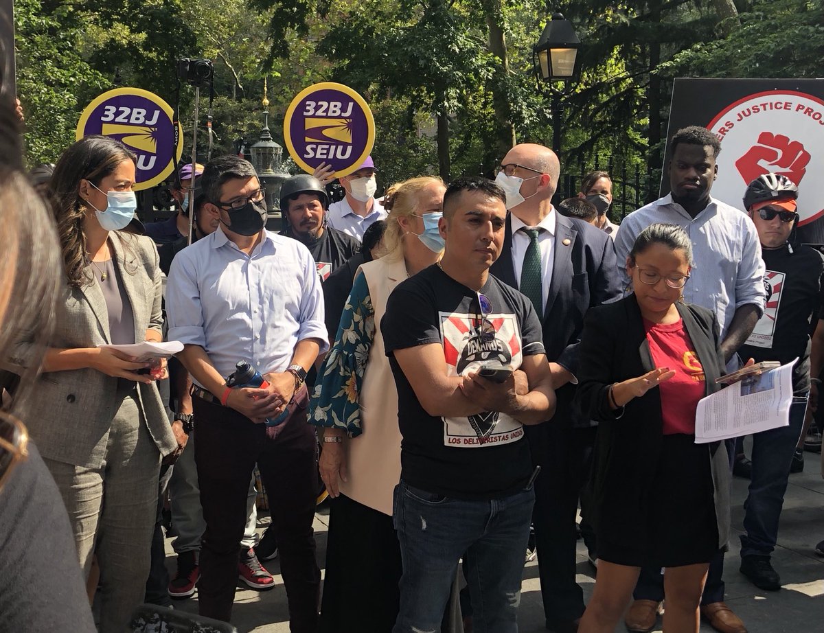
[[693,264],[684,300],[715,312],[722,339],[737,308],[752,303],[759,314],[764,312],[765,268],[756,227],[746,213],[712,198],[695,219],[672,201],[672,194],[624,218],[616,236],[616,254],[625,285],[630,283],[626,257],[639,233],[654,223],[677,224],[690,236]]

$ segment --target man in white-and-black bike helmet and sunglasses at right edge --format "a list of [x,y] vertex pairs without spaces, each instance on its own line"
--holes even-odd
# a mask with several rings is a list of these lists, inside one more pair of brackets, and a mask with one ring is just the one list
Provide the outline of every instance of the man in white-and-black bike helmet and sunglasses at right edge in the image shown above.
[[742,359],[777,360],[793,368],[789,426],[752,436],[752,474],[744,502],[741,572],[756,587],[777,590],[770,565],[790,462],[804,424],[810,391],[810,326],[822,305],[822,254],[795,242],[798,188],[784,176],[765,174],[747,187],[744,206],[758,231],[766,266],[764,315],[738,354]]

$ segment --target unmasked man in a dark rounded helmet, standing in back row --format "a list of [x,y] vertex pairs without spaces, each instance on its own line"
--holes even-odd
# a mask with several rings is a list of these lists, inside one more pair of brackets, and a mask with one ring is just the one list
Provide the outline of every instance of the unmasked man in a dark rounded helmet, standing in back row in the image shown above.
[[329,196],[315,176],[301,174],[283,182],[280,210],[286,228],[280,234],[309,249],[322,281],[360,251],[358,240],[326,224],[328,208]]

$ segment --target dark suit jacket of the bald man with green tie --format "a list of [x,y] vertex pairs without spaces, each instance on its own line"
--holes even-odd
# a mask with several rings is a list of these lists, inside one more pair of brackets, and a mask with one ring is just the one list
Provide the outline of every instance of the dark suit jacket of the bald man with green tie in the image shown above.
[[[542,324],[544,348],[550,362],[560,363],[577,376],[583,317],[590,307],[620,298],[620,277],[611,237],[582,220],[553,213],[556,214],[555,246]],[[512,246],[512,216],[508,214],[501,255],[489,272],[504,284],[517,288]],[[554,420],[569,423],[574,392],[573,384],[557,391]]]

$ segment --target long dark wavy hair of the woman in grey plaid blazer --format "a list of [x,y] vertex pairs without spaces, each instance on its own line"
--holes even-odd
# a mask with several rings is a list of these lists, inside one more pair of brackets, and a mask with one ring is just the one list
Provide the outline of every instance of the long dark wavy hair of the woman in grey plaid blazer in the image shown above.
[[83,218],[88,210],[79,194],[80,181],[99,185],[124,161],[136,163],[137,157],[114,138],[93,134],[73,143],[54,166],[50,185],[52,210],[57,221],[66,280],[73,288],[91,284],[91,277],[86,272],[91,258],[83,232]]

